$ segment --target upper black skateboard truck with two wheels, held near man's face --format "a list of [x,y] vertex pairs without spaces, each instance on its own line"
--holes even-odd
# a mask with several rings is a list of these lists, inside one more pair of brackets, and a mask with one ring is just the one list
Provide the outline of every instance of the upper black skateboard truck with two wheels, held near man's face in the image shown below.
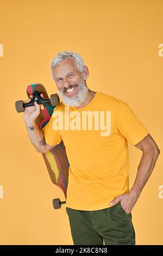
[[18,100],[15,102],[15,107],[16,107],[16,111],[18,113],[21,113],[21,112],[24,112],[24,108],[25,107],[31,107],[31,106],[35,106],[34,102],[36,101],[39,105],[41,104],[45,104],[45,103],[48,103],[50,102],[52,106],[57,106],[59,105],[59,96],[58,94],[51,94],[51,99],[50,100],[46,100],[46,99],[43,99],[41,96],[40,96],[40,92],[38,91],[35,91],[33,93],[34,97],[33,99],[29,102],[29,103],[24,103],[23,100]]

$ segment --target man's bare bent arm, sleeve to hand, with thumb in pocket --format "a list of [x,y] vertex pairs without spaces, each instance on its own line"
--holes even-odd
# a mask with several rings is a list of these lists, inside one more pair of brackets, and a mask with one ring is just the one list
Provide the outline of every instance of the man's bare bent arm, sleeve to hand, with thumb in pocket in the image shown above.
[[131,212],[135,203],[137,202],[137,199],[140,197],[141,191],[151,176],[155,163],[160,154],[158,146],[149,133],[145,138],[142,139],[142,141],[135,144],[135,147],[142,150],[143,154],[137,168],[137,175],[134,185],[129,193],[121,194],[110,203],[110,205],[114,205],[120,201],[122,208],[127,212],[127,214]]

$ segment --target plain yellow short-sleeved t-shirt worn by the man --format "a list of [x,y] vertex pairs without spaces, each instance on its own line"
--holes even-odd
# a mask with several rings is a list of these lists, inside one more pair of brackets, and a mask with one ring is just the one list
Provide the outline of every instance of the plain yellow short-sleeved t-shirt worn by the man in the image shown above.
[[[129,192],[127,141],[137,144],[148,135],[148,130],[126,102],[101,92],[83,108],[65,107],[61,102],[53,112],[62,113],[62,127],[53,129],[58,115],[52,115],[43,131],[47,144],[59,144],[61,140],[65,144],[70,163],[66,206],[89,211],[109,208],[112,199]],[[77,118],[72,111],[80,116]],[[96,113],[92,126],[88,126],[88,121],[84,123],[83,113],[90,113],[87,111]],[[72,122],[67,126],[69,130],[65,128],[67,113]],[[86,129],[82,130],[83,127]]]

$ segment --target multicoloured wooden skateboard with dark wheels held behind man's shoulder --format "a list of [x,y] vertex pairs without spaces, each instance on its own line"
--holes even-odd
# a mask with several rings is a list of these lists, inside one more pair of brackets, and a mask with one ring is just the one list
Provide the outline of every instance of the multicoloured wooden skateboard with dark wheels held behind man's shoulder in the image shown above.
[[[44,99],[40,94],[44,95]],[[24,103],[23,100],[15,102],[16,111],[18,113],[24,112],[25,107],[34,106],[34,101],[41,104],[41,113],[36,119],[36,124],[42,130],[45,127],[53,114],[54,108],[59,105],[58,94],[52,94],[50,99],[46,92],[45,87],[42,84],[30,84],[27,87],[27,95],[34,95],[33,99],[29,103]],[[68,169],[69,163],[66,155],[64,142],[61,141],[60,144],[55,146],[52,150],[47,153],[42,153],[43,159],[45,161],[49,176],[53,184],[57,185],[64,192],[65,199],[67,197],[67,185],[68,185]],[[66,201],[60,201],[59,198],[53,199],[54,209],[60,209],[61,204],[65,204]]]

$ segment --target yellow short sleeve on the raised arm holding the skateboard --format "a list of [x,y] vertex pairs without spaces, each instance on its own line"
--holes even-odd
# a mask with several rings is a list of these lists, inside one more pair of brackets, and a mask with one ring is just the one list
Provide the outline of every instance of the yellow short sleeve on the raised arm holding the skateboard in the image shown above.
[[52,146],[57,145],[62,141],[59,130],[54,130],[53,127],[52,127],[53,121],[54,121],[54,118],[53,118],[53,115],[52,115],[52,117],[48,121],[47,125],[45,127],[43,127],[43,129],[42,129],[42,131],[44,133],[44,136],[45,136],[45,142],[48,145],[52,145]]

